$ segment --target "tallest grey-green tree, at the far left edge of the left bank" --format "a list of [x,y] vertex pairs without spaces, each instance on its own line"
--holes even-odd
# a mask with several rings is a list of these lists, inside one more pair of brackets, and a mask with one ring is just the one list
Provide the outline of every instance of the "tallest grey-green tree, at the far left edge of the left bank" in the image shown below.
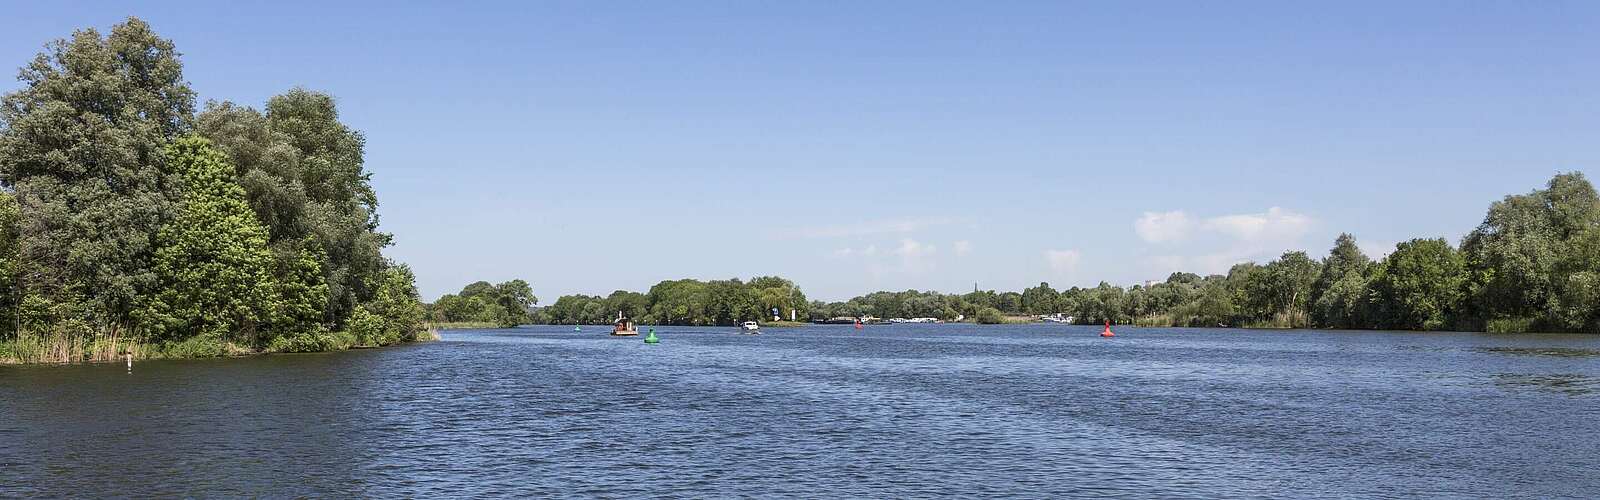
[[53,319],[130,322],[157,287],[155,234],[178,199],[163,146],[187,131],[194,91],[173,43],[130,18],[50,43],[0,99],[0,176],[21,213],[24,293]]

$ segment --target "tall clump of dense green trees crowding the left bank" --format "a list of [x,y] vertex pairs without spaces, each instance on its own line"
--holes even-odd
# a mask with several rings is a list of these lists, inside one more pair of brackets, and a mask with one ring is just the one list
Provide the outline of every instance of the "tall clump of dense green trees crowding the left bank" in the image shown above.
[[421,333],[365,141],[328,95],[195,114],[130,18],[53,42],[0,99],[0,341],[309,351]]

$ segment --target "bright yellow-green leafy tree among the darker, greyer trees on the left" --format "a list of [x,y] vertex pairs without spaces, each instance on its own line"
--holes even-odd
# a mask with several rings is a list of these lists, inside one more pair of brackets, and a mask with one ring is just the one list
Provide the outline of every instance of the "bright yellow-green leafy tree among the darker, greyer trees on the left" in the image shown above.
[[258,327],[278,308],[267,231],[234,183],[234,167],[211,143],[187,136],[166,147],[182,175],[182,202],[162,226],[155,250],[158,287],[144,306],[147,340],[194,332],[258,345]]

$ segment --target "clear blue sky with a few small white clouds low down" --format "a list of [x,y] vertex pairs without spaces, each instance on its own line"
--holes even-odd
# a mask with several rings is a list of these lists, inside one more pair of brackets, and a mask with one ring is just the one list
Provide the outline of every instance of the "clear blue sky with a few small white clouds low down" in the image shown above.
[[[1595,2],[30,2],[125,16],[202,99],[339,99],[429,300],[662,279],[1133,284],[1458,240],[1600,175]],[[5,90],[14,80],[0,83]]]

